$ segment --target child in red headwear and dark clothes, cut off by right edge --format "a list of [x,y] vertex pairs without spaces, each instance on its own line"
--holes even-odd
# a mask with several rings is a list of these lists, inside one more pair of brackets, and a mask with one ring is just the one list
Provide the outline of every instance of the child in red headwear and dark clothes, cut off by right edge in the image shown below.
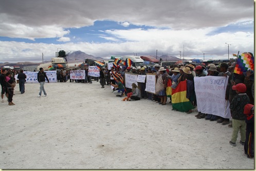
[[244,115],[246,116],[245,154],[248,158],[254,158],[254,106],[252,104],[245,105]]

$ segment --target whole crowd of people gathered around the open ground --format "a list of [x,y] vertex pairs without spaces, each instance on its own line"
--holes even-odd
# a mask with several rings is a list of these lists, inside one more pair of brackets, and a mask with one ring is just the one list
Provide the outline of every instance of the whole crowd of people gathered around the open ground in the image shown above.
[[[248,70],[243,74],[234,73],[235,63],[221,63],[219,65],[209,64],[196,64],[190,63],[184,65],[180,62],[172,68],[168,66],[160,66],[155,64],[154,66],[143,66],[143,67],[125,67],[117,66],[112,67],[111,70],[107,68],[100,68],[100,77],[94,78],[97,82],[100,80],[101,88],[105,88],[105,85],[112,86],[113,92],[116,96],[123,97],[122,101],[131,101],[131,100],[140,100],[148,99],[153,102],[156,102],[160,105],[166,105],[169,98],[170,104],[172,104],[172,97],[168,96],[167,85],[168,82],[171,82],[171,88],[175,89],[181,82],[187,81],[187,98],[191,103],[191,108],[186,111],[187,114],[192,113],[192,109],[197,107],[196,102],[196,93],[194,89],[194,78],[195,77],[227,77],[228,84],[225,92],[225,100],[230,102],[230,112],[232,116],[232,122],[230,123],[229,118],[222,118],[220,116],[213,115],[212,113],[203,113],[198,111],[195,115],[196,119],[203,119],[209,121],[215,121],[221,123],[222,125],[228,125],[228,127],[233,128],[231,135],[231,145],[236,146],[237,135],[241,134],[240,143],[244,145],[245,154],[248,158],[254,157],[254,72]],[[147,79],[144,83],[135,83],[132,84],[132,88],[125,87],[125,73],[147,75],[147,73],[152,73],[156,77],[156,91],[151,93],[146,91]],[[0,81],[2,86],[2,102],[4,102],[4,94],[8,97],[8,105],[14,105],[12,102],[13,98],[13,87],[11,84],[15,82],[13,77],[14,73],[3,69]],[[71,80],[70,72],[62,69],[57,71],[57,80],[58,82],[74,82]],[[20,92],[23,94],[25,92],[25,81],[26,75],[23,73],[23,70],[18,74]],[[41,97],[42,91],[44,96],[47,96],[44,89],[45,79],[49,80],[43,71],[43,68],[40,68],[38,72],[38,82],[40,83],[40,92],[38,97]],[[88,75],[88,69],[85,70],[85,79],[84,80],[75,80],[75,82],[90,83],[92,84],[92,77]]]

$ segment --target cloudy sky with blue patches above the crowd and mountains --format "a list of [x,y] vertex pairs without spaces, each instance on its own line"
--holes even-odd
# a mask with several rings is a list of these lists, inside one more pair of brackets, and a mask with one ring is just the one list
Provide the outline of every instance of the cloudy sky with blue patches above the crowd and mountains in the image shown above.
[[253,0],[0,2],[0,62],[41,62],[60,49],[228,59],[228,46],[229,58],[254,53]]

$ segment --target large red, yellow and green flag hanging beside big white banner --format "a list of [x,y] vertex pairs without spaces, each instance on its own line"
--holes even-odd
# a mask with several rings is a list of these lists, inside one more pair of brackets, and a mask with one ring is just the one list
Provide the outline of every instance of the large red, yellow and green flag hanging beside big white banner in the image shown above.
[[189,111],[194,106],[187,96],[187,80],[181,81],[175,89],[172,89],[172,108],[178,111]]

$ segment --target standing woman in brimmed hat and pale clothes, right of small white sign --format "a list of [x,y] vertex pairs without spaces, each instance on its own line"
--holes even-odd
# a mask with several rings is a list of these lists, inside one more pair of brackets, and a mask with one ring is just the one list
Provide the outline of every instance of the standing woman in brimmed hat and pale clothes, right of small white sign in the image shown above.
[[159,104],[166,105],[167,96],[166,96],[166,88],[164,87],[165,81],[167,81],[168,73],[166,73],[166,69],[164,67],[159,68],[159,76],[156,82],[156,94],[160,97],[161,102]]

